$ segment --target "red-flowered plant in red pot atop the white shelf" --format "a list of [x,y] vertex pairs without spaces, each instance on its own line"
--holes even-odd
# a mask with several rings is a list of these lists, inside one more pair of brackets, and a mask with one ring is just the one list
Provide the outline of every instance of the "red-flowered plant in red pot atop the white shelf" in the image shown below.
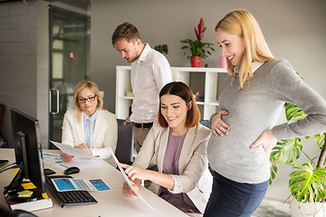
[[[191,39],[182,40],[182,43],[186,43],[187,45],[181,47],[182,50],[186,50],[184,52],[187,55],[187,58],[190,57],[191,66],[192,67],[200,67],[200,62],[208,55],[211,55],[210,51],[215,51],[212,47],[214,44],[210,42],[201,42],[204,32],[206,31],[206,27],[204,27],[204,20],[200,18],[200,22],[198,24],[198,30],[195,27],[195,33],[197,36],[197,40],[193,41]],[[187,54],[187,51],[190,52]]]

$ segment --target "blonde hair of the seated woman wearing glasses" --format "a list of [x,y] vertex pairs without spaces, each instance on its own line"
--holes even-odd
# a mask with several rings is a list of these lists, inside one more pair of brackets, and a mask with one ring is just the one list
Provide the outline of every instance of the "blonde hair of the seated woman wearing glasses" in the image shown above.
[[96,98],[98,99],[97,107],[103,110],[103,99],[101,97],[99,87],[91,80],[81,80],[77,83],[73,91],[73,108],[76,110],[77,117],[80,121],[82,121],[82,109],[78,104],[77,97],[80,91],[84,88],[89,88],[96,95]]

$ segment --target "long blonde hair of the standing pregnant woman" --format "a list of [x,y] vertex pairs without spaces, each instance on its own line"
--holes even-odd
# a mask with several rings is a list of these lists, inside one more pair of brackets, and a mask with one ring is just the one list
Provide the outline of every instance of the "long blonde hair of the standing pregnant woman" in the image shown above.
[[[240,87],[244,88],[245,81],[250,80],[254,74],[251,68],[253,61],[273,60],[273,54],[270,51],[264,34],[254,18],[244,9],[234,10],[226,14],[225,17],[216,24],[215,31],[221,30],[225,33],[237,34],[244,38],[245,52],[240,62],[239,80]],[[227,71],[231,76],[235,76],[234,66],[227,60]]]

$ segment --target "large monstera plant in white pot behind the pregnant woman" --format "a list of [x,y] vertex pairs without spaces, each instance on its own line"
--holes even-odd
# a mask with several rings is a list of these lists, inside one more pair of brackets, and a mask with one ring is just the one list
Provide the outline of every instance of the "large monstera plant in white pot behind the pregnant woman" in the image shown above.
[[[285,103],[284,109],[285,116],[288,121],[296,121],[307,116],[304,114],[302,109],[292,103]],[[326,132],[314,136],[316,144],[321,148],[321,153],[317,158],[317,162],[315,162],[315,156],[308,156],[302,150],[302,144],[300,144],[302,141],[301,138],[283,139],[278,141],[277,145],[272,150],[270,158],[272,162],[270,179],[271,184],[277,173],[276,164],[291,165],[301,156],[302,153],[307,157],[308,161],[303,165],[293,165],[293,168],[296,170],[289,175],[289,188],[293,197],[292,205],[297,205],[300,212],[305,212],[305,214],[308,213],[306,213],[307,211],[302,210],[302,203],[303,205],[308,205],[309,212],[312,211],[310,215],[313,216],[315,216],[317,212],[323,211],[326,213],[326,207],[324,207],[324,209],[317,208],[322,207],[321,204],[318,203],[322,203],[326,200],[325,136]],[[295,201],[297,203],[295,203]],[[302,216],[304,216],[304,213]]]

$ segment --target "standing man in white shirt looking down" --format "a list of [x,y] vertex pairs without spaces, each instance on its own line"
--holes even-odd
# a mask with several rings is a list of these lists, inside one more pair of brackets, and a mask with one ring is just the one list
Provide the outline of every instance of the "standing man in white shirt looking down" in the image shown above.
[[159,91],[172,81],[171,68],[167,58],[144,44],[133,24],[118,25],[111,38],[113,47],[121,57],[131,63],[131,88],[134,99],[131,115],[124,124],[133,122],[134,142],[139,152],[153,121],[158,119]]

